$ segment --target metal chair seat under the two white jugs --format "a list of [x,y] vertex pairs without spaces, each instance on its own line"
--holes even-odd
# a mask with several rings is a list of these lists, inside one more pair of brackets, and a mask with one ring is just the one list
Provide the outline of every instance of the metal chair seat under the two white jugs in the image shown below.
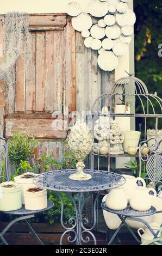
[[122,215],[122,216],[130,216],[130,217],[143,217],[143,216],[149,216],[155,214],[157,211],[153,206],[148,211],[136,211],[133,210],[130,205],[127,205],[126,209],[123,210],[112,210],[107,207],[105,202],[101,204],[101,207],[105,211],[109,211],[112,214]]

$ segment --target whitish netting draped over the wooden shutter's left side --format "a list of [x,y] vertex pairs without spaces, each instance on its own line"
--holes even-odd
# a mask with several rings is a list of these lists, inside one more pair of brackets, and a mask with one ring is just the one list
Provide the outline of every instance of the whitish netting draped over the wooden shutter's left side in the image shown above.
[[27,49],[27,70],[30,66],[31,38],[28,17],[29,15],[26,13],[8,13],[5,15],[4,59],[0,66],[0,80],[5,83],[9,113],[13,112],[15,101],[15,63],[22,53],[24,42],[26,42]]

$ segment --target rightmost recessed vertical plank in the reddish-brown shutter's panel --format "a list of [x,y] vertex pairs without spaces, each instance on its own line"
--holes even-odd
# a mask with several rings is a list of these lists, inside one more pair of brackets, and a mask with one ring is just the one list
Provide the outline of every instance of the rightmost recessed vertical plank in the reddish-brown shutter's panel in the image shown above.
[[63,45],[62,31],[54,32],[54,95],[56,97],[55,110],[63,109]]

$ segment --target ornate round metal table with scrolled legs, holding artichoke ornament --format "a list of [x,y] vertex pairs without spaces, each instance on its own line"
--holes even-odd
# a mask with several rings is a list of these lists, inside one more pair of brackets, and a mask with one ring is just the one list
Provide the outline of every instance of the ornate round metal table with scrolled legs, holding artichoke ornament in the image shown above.
[[[82,242],[89,242],[91,235],[94,243],[96,245],[96,238],[92,233],[96,225],[96,202],[99,197],[99,192],[103,190],[109,190],[114,187],[119,187],[123,185],[126,180],[116,173],[106,172],[102,170],[84,170],[85,173],[89,173],[92,176],[92,179],[87,181],[76,181],[69,179],[69,175],[77,172],[74,170],[54,170],[47,173],[39,174],[34,178],[34,183],[37,186],[46,188],[47,190],[52,190],[57,192],[61,200],[61,224],[63,225],[65,232],[61,235],[60,245],[63,243],[63,237],[65,234],[70,234],[68,236],[68,242],[76,242],[76,245],[82,245]],[[91,228],[86,228],[85,225],[88,224],[88,220],[83,217],[83,209],[86,203],[86,200],[91,196],[91,193],[98,192],[94,200],[94,224]],[[60,192],[66,193],[70,197],[76,216],[70,218],[68,224],[70,227],[65,227],[63,223],[63,214],[64,214],[64,203],[61,198]],[[75,193],[75,196],[73,195]],[[76,197],[76,193],[78,197]],[[86,235],[84,237],[84,235]]]

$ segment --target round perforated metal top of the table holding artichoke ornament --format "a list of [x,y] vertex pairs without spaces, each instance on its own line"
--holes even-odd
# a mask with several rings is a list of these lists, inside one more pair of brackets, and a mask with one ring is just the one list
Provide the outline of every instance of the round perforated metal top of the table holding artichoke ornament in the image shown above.
[[92,179],[87,181],[69,179],[69,175],[76,172],[76,169],[52,170],[51,172],[35,176],[34,183],[39,187],[53,191],[92,192],[109,190],[114,187],[119,187],[126,182],[120,174],[104,170],[88,169],[85,169],[84,172],[91,174]]

